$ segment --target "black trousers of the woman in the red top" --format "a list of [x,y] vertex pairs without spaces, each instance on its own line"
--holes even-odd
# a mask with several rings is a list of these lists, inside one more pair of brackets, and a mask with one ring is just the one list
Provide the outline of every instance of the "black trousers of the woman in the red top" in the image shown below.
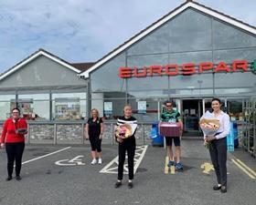
[[7,153],[7,170],[8,176],[12,176],[14,170],[14,162],[16,161],[16,176],[19,176],[21,169],[21,160],[25,148],[24,142],[5,143]]

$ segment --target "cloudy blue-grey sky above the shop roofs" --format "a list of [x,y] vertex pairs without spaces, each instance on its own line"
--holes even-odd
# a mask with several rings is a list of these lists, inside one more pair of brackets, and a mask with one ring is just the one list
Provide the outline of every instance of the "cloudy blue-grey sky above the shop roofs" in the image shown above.
[[[185,0],[0,1],[0,73],[44,48],[70,63],[96,61]],[[255,0],[197,0],[256,26]]]

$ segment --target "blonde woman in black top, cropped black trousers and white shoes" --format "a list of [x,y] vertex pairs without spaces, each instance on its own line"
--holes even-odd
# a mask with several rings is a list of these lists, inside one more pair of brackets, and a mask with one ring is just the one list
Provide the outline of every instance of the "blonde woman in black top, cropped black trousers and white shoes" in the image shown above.
[[86,124],[86,139],[89,138],[91,142],[91,164],[102,163],[101,154],[101,139],[103,133],[103,122],[99,118],[99,111],[96,108],[91,109],[91,118],[88,119]]

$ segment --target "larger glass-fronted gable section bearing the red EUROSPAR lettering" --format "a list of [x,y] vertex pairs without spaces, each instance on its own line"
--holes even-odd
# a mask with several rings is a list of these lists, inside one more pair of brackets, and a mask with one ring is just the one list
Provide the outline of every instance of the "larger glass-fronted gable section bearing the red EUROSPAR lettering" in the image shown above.
[[115,119],[123,105],[140,121],[157,121],[173,99],[187,131],[212,97],[232,120],[256,95],[256,29],[204,5],[187,2],[104,56],[80,77],[89,79],[91,108]]

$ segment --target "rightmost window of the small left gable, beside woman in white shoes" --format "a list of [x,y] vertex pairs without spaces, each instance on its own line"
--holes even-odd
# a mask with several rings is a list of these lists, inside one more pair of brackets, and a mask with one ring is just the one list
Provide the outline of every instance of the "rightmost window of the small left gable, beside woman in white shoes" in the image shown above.
[[57,120],[86,118],[86,93],[52,94],[52,117]]

